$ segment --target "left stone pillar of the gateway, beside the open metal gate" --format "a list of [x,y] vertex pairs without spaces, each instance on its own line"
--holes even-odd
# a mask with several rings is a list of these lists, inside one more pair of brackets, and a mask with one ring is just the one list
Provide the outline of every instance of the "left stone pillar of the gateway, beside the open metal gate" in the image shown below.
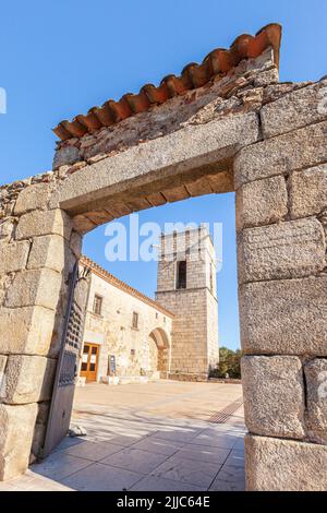
[[59,180],[48,172],[0,188],[0,479],[26,469],[52,394],[81,247],[69,216],[48,206]]

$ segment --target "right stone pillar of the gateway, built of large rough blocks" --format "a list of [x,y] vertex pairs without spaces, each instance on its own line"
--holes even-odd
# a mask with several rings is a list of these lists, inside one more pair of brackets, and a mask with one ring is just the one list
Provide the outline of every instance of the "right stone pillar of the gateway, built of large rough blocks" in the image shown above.
[[251,490],[327,489],[326,86],[264,106],[234,163]]

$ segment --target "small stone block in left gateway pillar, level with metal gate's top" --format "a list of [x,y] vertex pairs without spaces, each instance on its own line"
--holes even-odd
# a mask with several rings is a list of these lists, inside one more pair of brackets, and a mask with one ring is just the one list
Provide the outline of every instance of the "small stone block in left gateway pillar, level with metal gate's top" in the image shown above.
[[71,271],[72,259],[75,262],[69,242],[59,235],[36,237],[33,240],[27,269],[48,267],[62,273],[65,265],[68,271]]

